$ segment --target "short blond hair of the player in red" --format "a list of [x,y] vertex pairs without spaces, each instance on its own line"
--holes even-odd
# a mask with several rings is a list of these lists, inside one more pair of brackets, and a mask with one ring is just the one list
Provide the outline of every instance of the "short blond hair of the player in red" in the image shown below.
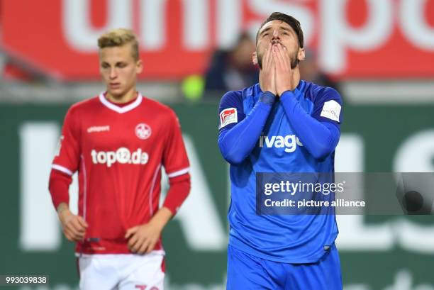
[[139,59],[138,52],[138,39],[133,33],[133,30],[125,28],[117,28],[109,30],[98,38],[98,47],[113,48],[115,46],[122,46],[126,43],[131,44],[134,60]]

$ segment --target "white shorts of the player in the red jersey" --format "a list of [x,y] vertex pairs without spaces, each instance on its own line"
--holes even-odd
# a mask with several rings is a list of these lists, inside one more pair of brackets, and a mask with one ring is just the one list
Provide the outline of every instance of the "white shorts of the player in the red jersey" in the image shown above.
[[164,254],[82,255],[79,257],[82,290],[163,290]]

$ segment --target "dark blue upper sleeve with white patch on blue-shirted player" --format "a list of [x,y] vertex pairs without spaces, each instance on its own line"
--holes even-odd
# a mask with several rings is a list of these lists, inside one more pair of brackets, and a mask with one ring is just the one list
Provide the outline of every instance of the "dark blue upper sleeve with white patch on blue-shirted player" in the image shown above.
[[313,104],[313,118],[320,122],[332,123],[340,128],[343,121],[342,98],[335,89],[325,87]]

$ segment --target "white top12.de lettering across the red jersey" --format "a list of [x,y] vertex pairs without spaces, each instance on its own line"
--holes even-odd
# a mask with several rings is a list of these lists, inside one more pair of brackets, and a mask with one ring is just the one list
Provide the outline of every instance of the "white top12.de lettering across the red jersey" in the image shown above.
[[120,164],[146,164],[149,160],[147,152],[142,152],[139,148],[133,153],[126,147],[121,147],[116,151],[91,151],[92,162],[94,164],[107,164],[107,167],[116,162]]

